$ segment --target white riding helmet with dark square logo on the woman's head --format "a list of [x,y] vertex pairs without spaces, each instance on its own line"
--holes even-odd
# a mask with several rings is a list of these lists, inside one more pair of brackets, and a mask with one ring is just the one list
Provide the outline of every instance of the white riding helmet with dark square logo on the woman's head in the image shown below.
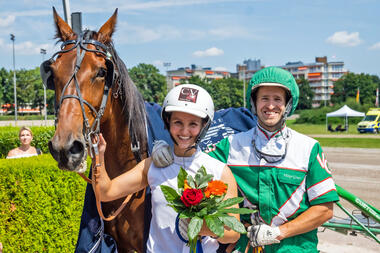
[[206,119],[206,124],[195,143],[198,144],[206,135],[214,119],[214,102],[210,94],[202,87],[195,84],[182,84],[171,89],[164,99],[161,118],[167,129],[169,129],[170,112],[185,112]]

